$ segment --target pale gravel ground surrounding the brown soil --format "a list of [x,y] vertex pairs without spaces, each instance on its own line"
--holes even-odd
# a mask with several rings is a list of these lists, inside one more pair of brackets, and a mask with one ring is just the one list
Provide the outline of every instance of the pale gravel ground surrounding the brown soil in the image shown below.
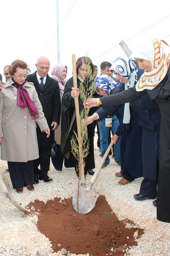
[[[97,136],[94,137],[94,154],[95,163],[98,166],[101,157],[99,156],[99,149],[96,147],[96,139]],[[9,173],[5,171],[6,168],[7,162],[1,161],[0,173],[9,195],[23,208],[35,199],[46,202],[54,197],[61,197],[62,199],[71,197],[78,183],[73,169],[63,167],[62,173],[58,173],[51,164],[48,175],[53,178],[53,182],[40,181],[39,184],[35,185],[34,191],[23,188],[23,193],[19,195],[12,188]],[[142,178],[127,185],[119,185],[117,183],[119,178],[115,176],[115,173],[119,171],[119,165],[110,157],[110,164],[101,169],[93,189],[97,193],[105,195],[119,220],[128,218],[136,226],[144,229],[143,236],[137,240],[138,246],[131,248],[125,255],[170,255],[170,224],[156,219],[156,207],[153,206],[152,200],[138,202],[133,199],[133,195],[139,193]],[[90,175],[86,175],[86,184],[90,178]],[[2,193],[0,193],[0,200],[0,255],[62,255],[61,252],[55,253],[48,238],[38,231],[37,215],[24,214],[8,202]],[[89,254],[87,253],[87,255]]]

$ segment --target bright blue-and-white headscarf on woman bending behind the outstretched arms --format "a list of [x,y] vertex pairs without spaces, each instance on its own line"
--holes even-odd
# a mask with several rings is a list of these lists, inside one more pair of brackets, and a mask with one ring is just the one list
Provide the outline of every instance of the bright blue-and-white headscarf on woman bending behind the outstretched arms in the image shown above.
[[101,75],[98,79],[96,79],[95,87],[103,89],[109,95],[118,84],[119,83],[114,83],[110,76]]

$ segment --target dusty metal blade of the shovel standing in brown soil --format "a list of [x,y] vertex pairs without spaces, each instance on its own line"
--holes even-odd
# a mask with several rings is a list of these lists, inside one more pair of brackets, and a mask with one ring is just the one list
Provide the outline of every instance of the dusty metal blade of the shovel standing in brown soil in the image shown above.
[[[72,195],[72,205],[79,214],[88,214],[88,212],[94,208],[95,202],[97,201],[98,197],[99,197],[98,193],[95,193],[92,190],[87,191],[85,187],[80,186],[79,198],[78,198],[78,189],[74,191]],[[78,201],[78,206],[77,206],[77,201]]]

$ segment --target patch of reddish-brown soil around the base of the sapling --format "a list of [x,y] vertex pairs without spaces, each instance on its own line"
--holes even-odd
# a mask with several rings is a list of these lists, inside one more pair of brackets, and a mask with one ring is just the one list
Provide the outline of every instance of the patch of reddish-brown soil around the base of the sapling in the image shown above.
[[134,237],[143,233],[140,228],[127,228],[129,220],[119,221],[104,196],[86,215],[77,214],[72,198],[54,198],[46,203],[35,200],[31,206],[35,208],[31,212],[39,212],[39,231],[51,241],[55,252],[65,248],[70,253],[90,256],[124,255],[127,248],[137,245]]

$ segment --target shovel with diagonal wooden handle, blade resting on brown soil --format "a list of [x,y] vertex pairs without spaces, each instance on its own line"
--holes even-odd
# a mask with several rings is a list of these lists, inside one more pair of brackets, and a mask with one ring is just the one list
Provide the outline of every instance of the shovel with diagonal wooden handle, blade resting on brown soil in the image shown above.
[[[89,211],[91,211],[94,206],[95,206],[95,202],[97,201],[99,194],[95,193],[94,191],[90,190],[96,177],[98,176],[98,173],[102,167],[102,165],[105,162],[106,157],[108,156],[111,147],[113,146],[114,141],[112,140],[105,155],[102,158],[102,161],[100,162],[98,168],[96,168],[95,173],[93,175],[93,177],[91,178],[90,182],[88,183],[88,186],[82,187],[79,186],[79,188],[74,191],[73,195],[72,195],[72,205],[74,207],[74,209],[80,213],[80,214],[88,214]],[[78,196],[79,194],[79,196]]]

